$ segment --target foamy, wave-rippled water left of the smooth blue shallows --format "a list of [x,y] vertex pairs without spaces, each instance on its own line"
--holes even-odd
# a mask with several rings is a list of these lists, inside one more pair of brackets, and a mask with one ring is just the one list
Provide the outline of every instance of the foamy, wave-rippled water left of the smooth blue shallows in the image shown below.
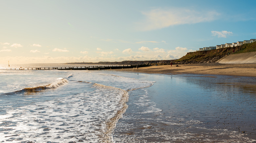
[[99,71],[1,70],[0,75],[4,142],[113,142],[127,91],[153,85]]

